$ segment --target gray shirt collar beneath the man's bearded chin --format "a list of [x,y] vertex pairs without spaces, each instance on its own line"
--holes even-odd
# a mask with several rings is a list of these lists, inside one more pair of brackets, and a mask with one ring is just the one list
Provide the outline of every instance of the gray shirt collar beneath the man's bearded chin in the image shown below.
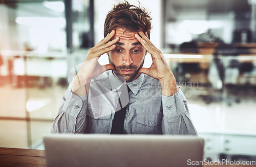
[[110,70],[109,71],[109,80],[110,80],[111,89],[112,89],[112,91],[117,91],[120,89],[120,87],[123,84],[127,84],[129,86],[129,88],[131,89],[131,91],[134,93],[134,95],[136,95],[144,81],[144,76],[145,76],[144,74],[140,74],[136,80],[129,82],[129,83],[123,83],[120,80],[118,80],[114,76],[113,71]]

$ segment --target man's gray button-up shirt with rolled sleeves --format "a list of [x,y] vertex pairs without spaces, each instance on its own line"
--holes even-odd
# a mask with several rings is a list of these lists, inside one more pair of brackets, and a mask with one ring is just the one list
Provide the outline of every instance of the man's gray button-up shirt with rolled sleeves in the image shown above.
[[[78,97],[71,92],[71,83],[52,133],[110,133],[122,84],[111,70],[105,71],[91,81],[88,94]],[[159,80],[144,74],[127,86],[131,91],[123,133],[197,134],[180,88],[171,97],[163,96]]]

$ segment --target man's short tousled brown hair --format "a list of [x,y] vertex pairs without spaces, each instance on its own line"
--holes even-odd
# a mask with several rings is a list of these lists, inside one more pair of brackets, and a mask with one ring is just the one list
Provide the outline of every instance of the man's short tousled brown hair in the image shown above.
[[136,7],[129,2],[115,5],[106,15],[104,23],[104,37],[112,30],[122,28],[125,31],[138,32],[139,30],[147,32],[150,38],[151,16],[145,8]]

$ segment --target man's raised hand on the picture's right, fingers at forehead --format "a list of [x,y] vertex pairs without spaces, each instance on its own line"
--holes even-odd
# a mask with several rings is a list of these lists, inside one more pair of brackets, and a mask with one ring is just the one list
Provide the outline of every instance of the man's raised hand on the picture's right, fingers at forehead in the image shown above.
[[138,39],[145,50],[151,54],[153,62],[150,68],[140,68],[139,73],[144,73],[158,79],[161,83],[162,94],[168,97],[173,96],[173,94],[178,91],[176,80],[162,52],[148,39],[147,32],[144,34],[142,31],[139,31],[139,34],[135,34],[135,38]]

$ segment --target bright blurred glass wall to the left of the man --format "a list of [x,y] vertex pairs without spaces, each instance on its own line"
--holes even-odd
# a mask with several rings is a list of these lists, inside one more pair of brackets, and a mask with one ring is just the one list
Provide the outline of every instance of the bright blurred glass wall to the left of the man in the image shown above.
[[64,2],[0,2],[0,147],[44,148],[69,67],[86,56],[88,8],[88,1],[72,4],[73,49],[82,50],[71,55]]

